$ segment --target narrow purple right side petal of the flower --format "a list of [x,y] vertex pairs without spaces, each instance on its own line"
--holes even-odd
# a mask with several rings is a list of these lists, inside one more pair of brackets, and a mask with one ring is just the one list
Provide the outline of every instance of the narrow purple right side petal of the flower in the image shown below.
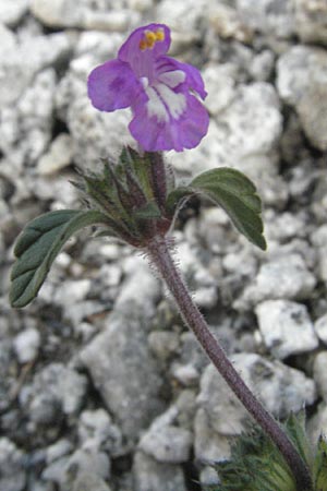
[[156,63],[156,74],[160,80],[162,76],[167,76],[172,71],[179,71],[185,73],[184,84],[189,89],[196,92],[202,99],[205,99],[207,92],[205,91],[204,81],[199,71],[189,63],[181,63],[170,57],[160,57]]

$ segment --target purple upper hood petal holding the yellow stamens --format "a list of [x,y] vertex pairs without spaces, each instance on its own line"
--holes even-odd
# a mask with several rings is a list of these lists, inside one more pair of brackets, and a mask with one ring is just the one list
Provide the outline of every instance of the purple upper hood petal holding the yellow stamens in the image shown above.
[[170,47],[170,29],[165,24],[148,24],[135,29],[118,52],[118,58],[130,63],[137,77],[152,81],[154,61]]

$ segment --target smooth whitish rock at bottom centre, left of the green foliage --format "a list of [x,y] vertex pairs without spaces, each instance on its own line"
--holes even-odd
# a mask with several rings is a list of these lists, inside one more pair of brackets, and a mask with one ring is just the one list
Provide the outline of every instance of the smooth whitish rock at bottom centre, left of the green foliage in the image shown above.
[[142,436],[138,447],[158,462],[181,464],[190,458],[192,433],[175,426],[158,426],[156,421]]

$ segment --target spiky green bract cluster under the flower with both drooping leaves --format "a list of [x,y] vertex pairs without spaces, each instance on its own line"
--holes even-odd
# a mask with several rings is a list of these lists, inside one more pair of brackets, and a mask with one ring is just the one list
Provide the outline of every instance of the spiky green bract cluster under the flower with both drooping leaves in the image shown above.
[[254,184],[238,170],[209,170],[189,185],[177,188],[161,154],[140,155],[124,148],[118,163],[104,163],[102,173],[81,177],[73,184],[83,192],[88,211],[50,212],[22,231],[11,275],[13,307],[25,307],[36,297],[62,246],[81,228],[101,225],[98,235],[145,249],[155,237],[168,232],[192,194],[201,193],[221,206],[241,233],[261,249],[266,248],[261,200]]

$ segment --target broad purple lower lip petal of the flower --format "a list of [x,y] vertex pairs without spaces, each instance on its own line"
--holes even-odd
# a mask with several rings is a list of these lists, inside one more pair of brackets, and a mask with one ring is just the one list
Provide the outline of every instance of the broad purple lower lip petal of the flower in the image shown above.
[[196,97],[184,93],[186,107],[178,118],[149,116],[146,104],[132,107],[134,118],[129,128],[135,140],[147,152],[194,148],[208,130],[209,116]]

